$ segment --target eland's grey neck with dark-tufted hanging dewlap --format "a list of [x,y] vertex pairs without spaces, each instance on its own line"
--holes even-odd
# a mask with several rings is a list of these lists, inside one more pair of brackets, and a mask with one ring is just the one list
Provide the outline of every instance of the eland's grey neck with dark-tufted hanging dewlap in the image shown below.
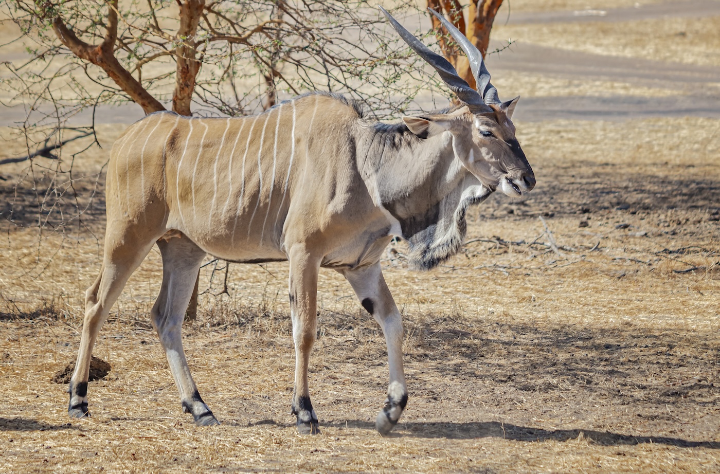
[[434,268],[460,249],[467,206],[487,190],[455,158],[449,132],[421,139],[402,124],[372,124],[365,135],[359,168],[376,204],[400,222],[411,265]]

